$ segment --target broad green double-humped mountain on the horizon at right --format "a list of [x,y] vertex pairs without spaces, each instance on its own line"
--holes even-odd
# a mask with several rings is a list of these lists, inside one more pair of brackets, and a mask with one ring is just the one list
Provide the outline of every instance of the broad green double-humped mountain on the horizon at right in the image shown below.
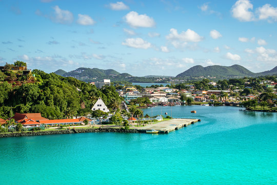
[[188,70],[180,73],[176,78],[180,77],[201,77],[201,76],[210,76],[210,77],[245,77],[245,76],[256,76],[256,73],[251,72],[240,65],[232,66],[207,66],[203,67],[201,65],[196,65]]

